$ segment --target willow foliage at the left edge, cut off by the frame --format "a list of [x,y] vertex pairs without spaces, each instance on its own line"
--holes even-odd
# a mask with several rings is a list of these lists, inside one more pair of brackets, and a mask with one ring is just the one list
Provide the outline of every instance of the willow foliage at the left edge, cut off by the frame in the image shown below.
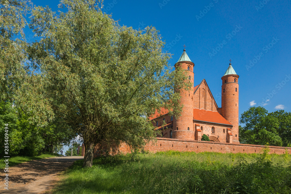
[[0,101],[13,101],[27,74],[23,28],[31,10],[29,0],[0,0]]

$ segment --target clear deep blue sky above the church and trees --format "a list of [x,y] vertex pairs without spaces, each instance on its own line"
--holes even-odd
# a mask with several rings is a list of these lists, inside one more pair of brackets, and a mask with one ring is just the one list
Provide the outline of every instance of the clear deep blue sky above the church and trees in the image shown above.
[[[54,11],[59,4],[32,2]],[[269,112],[291,111],[291,1],[105,0],[102,10],[112,13],[120,25],[155,26],[166,41],[165,51],[173,54],[171,65],[185,44],[195,64],[194,85],[206,79],[218,106],[221,76],[231,59],[240,76],[239,115],[251,105],[261,105]]]

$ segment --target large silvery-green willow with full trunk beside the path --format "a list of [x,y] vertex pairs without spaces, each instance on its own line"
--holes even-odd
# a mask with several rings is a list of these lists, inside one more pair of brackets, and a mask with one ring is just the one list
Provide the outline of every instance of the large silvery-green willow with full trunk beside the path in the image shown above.
[[42,37],[28,52],[38,74],[26,79],[19,102],[46,124],[64,119],[83,137],[83,166],[92,166],[97,143],[136,148],[155,136],[148,116],[161,106],[178,115],[173,87],[189,88],[171,71],[154,27],[134,30],[102,13],[102,2],[63,0],[66,12],[36,7],[30,27]]

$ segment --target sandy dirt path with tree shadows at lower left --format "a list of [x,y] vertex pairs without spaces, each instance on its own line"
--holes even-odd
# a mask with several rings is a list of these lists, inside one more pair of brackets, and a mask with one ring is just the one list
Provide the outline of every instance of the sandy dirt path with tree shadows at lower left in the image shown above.
[[61,156],[32,160],[9,168],[9,190],[4,189],[1,170],[0,193],[43,193],[55,184],[58,173],[83,156]]

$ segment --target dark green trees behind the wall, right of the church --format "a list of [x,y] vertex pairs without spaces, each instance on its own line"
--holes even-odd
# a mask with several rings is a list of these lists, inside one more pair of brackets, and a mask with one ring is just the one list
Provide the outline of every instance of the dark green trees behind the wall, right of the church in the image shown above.
[[287,146],[291,142],[291,113],[283,110],[268,113],[265,108],[251,107],[240,119],[240,143]]

